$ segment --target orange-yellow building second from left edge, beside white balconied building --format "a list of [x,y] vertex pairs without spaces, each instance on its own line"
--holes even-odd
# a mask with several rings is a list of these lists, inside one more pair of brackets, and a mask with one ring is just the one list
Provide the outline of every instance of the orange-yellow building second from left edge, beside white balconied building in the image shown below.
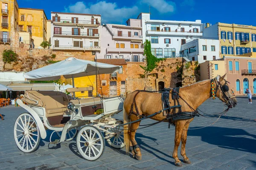
[[29,43],[32,48],[42,48],[47,40],[47,17],[43,9],[19,8],[20,43]]

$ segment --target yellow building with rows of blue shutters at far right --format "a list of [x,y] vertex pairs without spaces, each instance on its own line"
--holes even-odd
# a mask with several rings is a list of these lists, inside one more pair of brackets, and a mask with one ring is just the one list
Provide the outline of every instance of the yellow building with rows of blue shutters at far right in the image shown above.
[[219,40],[219,56],[256,52],[256,27],[216,23],[204,29],[203,37]]

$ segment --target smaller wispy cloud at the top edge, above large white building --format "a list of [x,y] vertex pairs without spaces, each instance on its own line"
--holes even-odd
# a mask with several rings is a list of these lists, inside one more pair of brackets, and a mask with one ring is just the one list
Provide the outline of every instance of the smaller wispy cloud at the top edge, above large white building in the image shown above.
[[158,12],[162,14],[175,11],[175,3],[171,1],[166,2],[166,0],[141,0],[141,2],[154,7]]

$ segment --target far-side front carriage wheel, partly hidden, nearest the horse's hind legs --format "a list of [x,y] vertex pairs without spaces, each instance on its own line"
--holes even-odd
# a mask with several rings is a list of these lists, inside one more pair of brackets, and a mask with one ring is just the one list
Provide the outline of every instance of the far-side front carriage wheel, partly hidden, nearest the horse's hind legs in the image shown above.
[[[117,121],[117,123],[119,123],[119,125],[122,125],[123,122],[122,121]],[[108,130],[108,132],[105,132],[105,137],[111,135],[111,133],[115,133],[114,136],[112,136],[111,138],[106,139],[108,144],[116,149],[122,149],[123,147],[125,147],[125,143],[124,143],[124,130],[122,130],[122,128],[116,127],[116,128],[105,128],[106,130]]]

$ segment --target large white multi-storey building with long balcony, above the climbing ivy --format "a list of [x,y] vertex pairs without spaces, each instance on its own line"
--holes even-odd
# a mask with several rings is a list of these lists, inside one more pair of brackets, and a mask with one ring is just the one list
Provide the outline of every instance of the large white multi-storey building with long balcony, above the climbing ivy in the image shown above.
[[143,43],[150,40],[152,54],[157,57],[179,57],[182,44],[203,36],[201,20],[151,20],[149,13],[140,13],[137,19],[142,23]]

